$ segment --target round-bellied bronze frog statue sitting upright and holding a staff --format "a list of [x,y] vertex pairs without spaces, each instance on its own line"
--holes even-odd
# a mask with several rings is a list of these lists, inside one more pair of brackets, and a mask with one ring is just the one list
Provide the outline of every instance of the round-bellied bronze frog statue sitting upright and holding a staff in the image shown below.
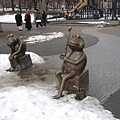
[[[71,28],[69,28],[70,33]],[[70,37],[70,34],[69,34]],[[55,75],[59,81],[60,88],[58,94],[54,96],[54,99],[62,97],[65,84],[68,80],[80,75],[87,64],[87,57],[83,51],[85,46],[84,40],[79,36],[73,36],[73,39],[67,41],[67,45],[72,50],[68,57],[66,55],[60,55],[60,58],[64,61],[61,70],[56,72]],[[63,75],[63,76],[62,76]]]

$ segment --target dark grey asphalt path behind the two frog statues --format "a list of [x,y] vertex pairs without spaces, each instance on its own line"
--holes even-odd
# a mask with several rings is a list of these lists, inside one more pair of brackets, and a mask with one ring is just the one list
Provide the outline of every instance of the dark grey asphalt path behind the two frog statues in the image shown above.
[[[3,24],[2,26],[3,26],[4,31],[10,31],[9,28],[11,28],[11,30],[13,30],[13,31],[17,30],[17,27],[15,24]],[[67,30],[68,26],[47,25],[47,28],[42,28],[42,29],[41,28],[35,29],[34,27],[35,27],[35,25],[33,25],[31,32],[36,31],[37,34],[38,33],[39,34],[50,33],[50,32],[63,32],[64,37],[53,39],[52,41],[49,41],[49,42],[46,41],[46,42],[37,43],[37,44],[27,44],[27,51],[35,52],[36,54],[38,54],[40,56],[57,55],[57,54],[63,53],[65,51],[66,40],[68,37],[68,30]],[[74,34],[80,34],[81,37],[85,41],[85,48],[95,45],[98,42],[97,37],[92,36],[92,35],[87,35],[87,34],[84,34],[81,32],[81,30],[86,29],[86,28],[87,27],[73,26],[72,34],[71,34],[71,36]],[[27,31],[25,28],[23,31],[19,31],[19,32],[21,32],[21,33],[28,32],[26,34],[27,34],[27,36],[30,36],[30,35],[28,35],[29,31]],[[32,35],[34,35],[34,33]],[[20,37],[23,38],[22,36],[20,36]],[[0,44],[0,52],[4,53],[4,54],[9,53],[9,49],[8,49],[8,46],[6,45],[6,43]]]

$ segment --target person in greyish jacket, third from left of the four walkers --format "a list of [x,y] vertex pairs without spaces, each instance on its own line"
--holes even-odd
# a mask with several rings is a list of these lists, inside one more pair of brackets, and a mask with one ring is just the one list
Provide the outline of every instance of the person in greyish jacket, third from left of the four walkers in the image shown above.
[[34,17],[35,17],[34,19],[35,19],[35,23],[36,23],[35,28],[38,28],[39,25],[41,27],[43,27],[43,25],[42,25],[42,15],[38,10],[36,10]]

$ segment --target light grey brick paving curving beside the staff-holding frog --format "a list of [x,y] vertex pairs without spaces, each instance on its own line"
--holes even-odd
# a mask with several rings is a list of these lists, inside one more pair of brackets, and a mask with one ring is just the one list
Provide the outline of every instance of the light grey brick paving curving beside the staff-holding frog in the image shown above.
[[98,32],[100,29],[92,28],[82,32],[99,38],[99,42],[86,48],[85,52],[90,71],[89,93],[103,103],[120,89],[120,37]]

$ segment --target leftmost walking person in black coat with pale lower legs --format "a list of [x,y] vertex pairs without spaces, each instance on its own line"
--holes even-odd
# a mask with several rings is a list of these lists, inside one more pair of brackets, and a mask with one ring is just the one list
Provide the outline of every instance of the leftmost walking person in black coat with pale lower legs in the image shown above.
[[19,13],[19,11],[15,15],[15,21],[18,26],[18,30],[22,31],[22,15]]

